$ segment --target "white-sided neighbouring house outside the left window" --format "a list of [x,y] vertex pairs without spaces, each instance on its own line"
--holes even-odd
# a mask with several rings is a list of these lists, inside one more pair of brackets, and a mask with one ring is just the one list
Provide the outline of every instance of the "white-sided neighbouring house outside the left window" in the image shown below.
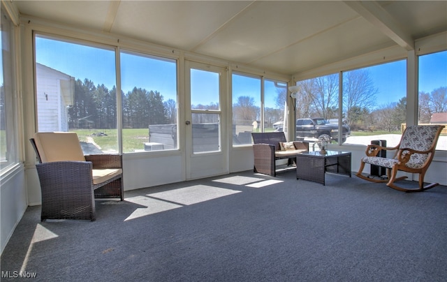
[[73,105],[75,77],[36,64],[38,131],[68,131],[68,106]]

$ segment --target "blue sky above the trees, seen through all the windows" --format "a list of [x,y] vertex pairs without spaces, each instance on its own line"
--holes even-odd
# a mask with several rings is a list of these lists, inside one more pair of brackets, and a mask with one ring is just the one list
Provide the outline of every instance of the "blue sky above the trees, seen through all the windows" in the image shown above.
[[[103,50],[46,38],[36,38],[36,48],[36,61],[40,64],[57,69],[76,79],[88,78],[96,85],[105,84],[108,89],[116,84],[115,52],[112,49]],[[447,87],[447,51],[420,57],[419,66],[420,91],[431,92],[439,87]],[[379,90],[378,105],[397,102],[406,95],[405,60],[372,66],[368,69]],[[165,101],[169,98],[176,100],[176,73],[174,60],[159,60],[149,56],[137,57],[133,54],[122,55],[122,88],[125,93],[136,86],[148,91],[159,91]],[[209,87],[212,87],[209,84],[210,77],[201,77],[200,73],[196,73],[193,75],[193,80],[193,85],[203,85],[203,91],[200,93],[200,87],[196,87],[194,89],[196,98],[191,103],[197,104],[200,99],[203,99],[204,105],[214,102],[215,99],[210,96]],[[236,87],[235,97],[256,96],[261,93],[258,80],[241,80],[240,83],[242,84]],[[276,91],[274,88],[265,90],[271,91],[270,93]],[[274,107],[274,95],[270,96],[272,98],[265,101],[266,105]]]

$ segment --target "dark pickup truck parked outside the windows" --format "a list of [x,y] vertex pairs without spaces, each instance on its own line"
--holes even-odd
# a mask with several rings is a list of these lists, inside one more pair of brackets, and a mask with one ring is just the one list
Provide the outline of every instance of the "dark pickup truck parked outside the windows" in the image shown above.
[[[296,137],[298,138],[318,138],[328,141],[338,141],[338,124],[330,124],[329,121],[318,117],[313,119],[296,120]],[[351,134],[351,129],[347,124],[343,124],[342,143]]]

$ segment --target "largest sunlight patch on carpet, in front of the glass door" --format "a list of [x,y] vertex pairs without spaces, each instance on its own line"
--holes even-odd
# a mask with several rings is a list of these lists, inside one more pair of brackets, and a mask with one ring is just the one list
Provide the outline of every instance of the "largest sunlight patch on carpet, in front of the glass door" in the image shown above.
[[169,191],[151,193],[147,196],[160,200],[166,200],[168,202],[178,203],[180,205],[193,205],[199,202],[205,202],[240,192],[241,191],[207,185],[194,185]]

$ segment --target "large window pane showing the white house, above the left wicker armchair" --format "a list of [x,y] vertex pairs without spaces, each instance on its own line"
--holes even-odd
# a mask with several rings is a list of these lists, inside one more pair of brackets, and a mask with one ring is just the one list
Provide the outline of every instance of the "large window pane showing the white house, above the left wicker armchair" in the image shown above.
[[118,151],[115,52],[36,36],[38,131],[74,131],[85,154]]

